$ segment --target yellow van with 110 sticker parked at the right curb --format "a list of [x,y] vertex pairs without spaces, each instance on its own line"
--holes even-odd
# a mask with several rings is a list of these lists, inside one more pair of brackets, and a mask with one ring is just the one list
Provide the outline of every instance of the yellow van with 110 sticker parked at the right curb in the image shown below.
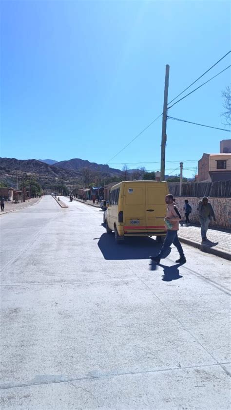
[[166,235],[165,181],[123,181],[110,190],[104,220],[107,233],[115,231],[120,243],[128,236],[153,236],[162,241]]

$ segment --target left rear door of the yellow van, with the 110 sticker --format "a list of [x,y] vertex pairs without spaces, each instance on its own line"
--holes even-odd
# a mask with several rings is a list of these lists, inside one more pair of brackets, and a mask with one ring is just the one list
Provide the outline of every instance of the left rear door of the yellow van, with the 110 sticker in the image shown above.
[[145,184],[124,184],[123,192],[124,230],[139,232],[146,229]]

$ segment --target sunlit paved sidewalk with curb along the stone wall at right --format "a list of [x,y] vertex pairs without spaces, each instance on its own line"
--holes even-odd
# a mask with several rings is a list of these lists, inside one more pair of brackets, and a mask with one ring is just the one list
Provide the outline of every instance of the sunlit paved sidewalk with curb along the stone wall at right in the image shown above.
[[231,261],[231,232],[227,230],[209,229],[209,241],[202,243],[199,226],[180,226],[178,237],[181,242]]

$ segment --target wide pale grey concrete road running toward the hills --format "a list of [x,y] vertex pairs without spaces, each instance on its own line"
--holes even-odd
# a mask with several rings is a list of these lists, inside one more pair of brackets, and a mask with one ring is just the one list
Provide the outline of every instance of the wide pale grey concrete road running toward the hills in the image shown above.
[[1,409],[230,409],[229,261],[116,245],[52,197],[1,218]]

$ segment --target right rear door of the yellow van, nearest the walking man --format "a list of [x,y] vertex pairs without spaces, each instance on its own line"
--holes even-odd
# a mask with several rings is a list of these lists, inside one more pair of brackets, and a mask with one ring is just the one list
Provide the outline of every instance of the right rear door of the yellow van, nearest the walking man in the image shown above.
[[150,231],[155,229],[166,229],[164,226],[164,217],[166,215],[167,205],[165,204],[165,195],[167,195],[167,186],[165,183],[146,183],[146,226]]

